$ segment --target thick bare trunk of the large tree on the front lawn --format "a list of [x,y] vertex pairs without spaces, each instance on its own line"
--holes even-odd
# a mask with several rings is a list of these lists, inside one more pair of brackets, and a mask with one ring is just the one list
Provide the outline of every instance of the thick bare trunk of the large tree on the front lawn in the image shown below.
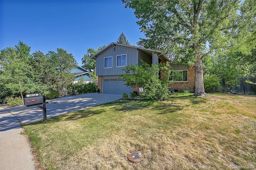
[[196,73],[196,83],[195,83],[194,95],[204,96],[206,93],[204,91],[203,65],[202,65],[202,59],[200,57],[196,58],[195,73]]

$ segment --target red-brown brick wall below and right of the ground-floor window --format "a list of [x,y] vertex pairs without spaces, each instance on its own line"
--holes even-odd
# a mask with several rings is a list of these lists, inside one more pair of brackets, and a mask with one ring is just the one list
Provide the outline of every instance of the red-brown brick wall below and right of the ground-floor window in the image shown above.
[[171,84],[170,89],[195,89],[196,75],[195,66],[188,66],[188,82],[174,82]]

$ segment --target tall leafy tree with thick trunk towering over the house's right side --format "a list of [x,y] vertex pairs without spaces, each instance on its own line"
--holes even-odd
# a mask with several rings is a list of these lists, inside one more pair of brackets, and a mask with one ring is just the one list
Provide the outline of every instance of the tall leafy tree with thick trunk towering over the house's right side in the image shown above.
[[228,37],[238,28],[240,1],[122,1],[135,10],[137,24],[146,36],[138,45],[161,49],[177,61],[195,62],[194,95],[204,95],[202,59],[213,49],[229,45]]

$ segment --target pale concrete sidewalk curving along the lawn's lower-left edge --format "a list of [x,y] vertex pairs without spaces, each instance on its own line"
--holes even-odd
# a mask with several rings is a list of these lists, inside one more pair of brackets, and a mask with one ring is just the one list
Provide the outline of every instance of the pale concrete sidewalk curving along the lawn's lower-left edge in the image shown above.
[[12,119],[10,129],[0,131],[0,170],[34,170],[33,155],[26,136],[20,134],[17,119],[7,111],[0,110],[1,123],[4,119]]

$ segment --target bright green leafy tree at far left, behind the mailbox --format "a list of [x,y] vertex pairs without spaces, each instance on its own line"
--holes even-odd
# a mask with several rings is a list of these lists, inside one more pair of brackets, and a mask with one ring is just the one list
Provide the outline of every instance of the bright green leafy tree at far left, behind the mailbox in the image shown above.
[[19,42],[15,47],[6,47],[0,52],[1,69],[4,71],[2,80],[5,87],[13,95],[20,94],[23,100],[24,93],[31,93],[38,89],[38,84],[33,81],[34,73],[28,65],[30,47]]

